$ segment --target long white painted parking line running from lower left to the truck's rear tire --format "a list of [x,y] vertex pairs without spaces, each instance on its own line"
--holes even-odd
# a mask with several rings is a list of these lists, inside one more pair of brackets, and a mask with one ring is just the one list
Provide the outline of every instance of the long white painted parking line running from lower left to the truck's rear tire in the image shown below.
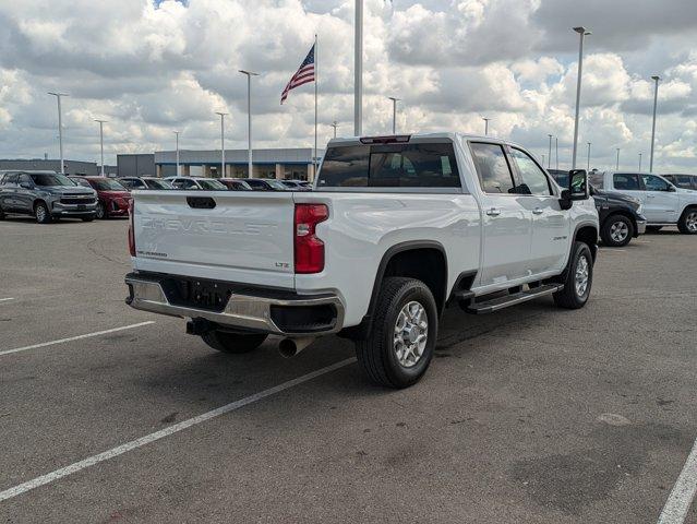
[[112,448],[108,451],[99,453],[97,455],[92,455],[87,458],[84,458],[80,462],[75,462],[70,466],[61,467],[60,469],[56,469],[55,472],[48,473],[46,475],[41,475],[40,477],[36,477],[26,483],[20,484],[10,489],[5,489],[4,491],[0,491],[0,502],[16,497],[19,495],[25,493],[31,489],[38,488],[39,486],[44,486],[46,484],[52,483],[53,480],[58,480],[59,478],[67,477],[68,475],[72,475],[73,473],[80,472],[81,469],[85,469],[87,467],[94,466],[99,462],[108,461],[109,458],[113,458],[115,456],[122,455],[128,453],[129,451],[133,451],[137,448],[142,448],[143,445],[149,444],[157,440],[164,439],[172,433],[177,433],[192,426],[196,426],[199,424],[211,420],[212,418],[219,417],[220,415],[225,415],[226,413],[233,412],[235,409],[239,409],[240,407],[247,406],[248,404],[252,404],[253,402],[261,401],[271,395],[275,395],[284,390],[292,388],[298,384],[302,384],[303,382],[308,382],[309,380],[315,379],[322,374],[326,374],[331,371],[335,371],[344,366],[348,366],[349,364],[353,364],[356,358],[347,358],[346,360],[341,360],[339,362],[333,364],[322,369],[317,369],[316,371],[312,371],[308,374],[303,374],[302,377],[298,377],[297,379],[289,380],[284,382],[283,384],[275,385],[274,388],[269,388],[268,390],[260,391],[259,393],[254,393],[253,395],[245,396],[244,398],[240,398],[239,401],[231,402],[230,404],[226,404],[225,406],[218,407],[211,412],[204,413],[203,415],[199,415],[193,418],[189,418],[187,420],[182,420],[179,424],[175,424],[165,429],[160,429],[159,431],[155,431],[154,433],[146,434],[145,437],[141,437],[140,439],[132,440],[127,442],[125,444],[121,444],[117,448]]

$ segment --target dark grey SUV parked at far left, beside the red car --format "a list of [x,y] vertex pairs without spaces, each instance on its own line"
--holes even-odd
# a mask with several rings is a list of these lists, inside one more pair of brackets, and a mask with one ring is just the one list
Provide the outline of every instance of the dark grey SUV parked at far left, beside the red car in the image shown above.
[[0,180],[0,218],[34,215],[39,224],[70,217],[92,222],[97,193],[55,171],[7,171]]

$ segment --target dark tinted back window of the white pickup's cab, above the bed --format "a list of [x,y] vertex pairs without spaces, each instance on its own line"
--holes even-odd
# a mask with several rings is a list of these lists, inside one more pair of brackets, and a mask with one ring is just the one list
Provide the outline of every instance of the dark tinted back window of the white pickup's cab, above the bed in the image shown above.
[[319,188],[460,188],[452,143],[331,147]]

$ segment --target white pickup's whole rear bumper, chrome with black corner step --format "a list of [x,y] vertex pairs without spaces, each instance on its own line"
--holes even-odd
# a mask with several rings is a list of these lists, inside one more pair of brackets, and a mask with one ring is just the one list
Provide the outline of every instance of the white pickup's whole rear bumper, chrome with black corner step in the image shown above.
[[211,310],[172,303],[165,291],[166,281],[166,277],[154,275],[127,275],[129,297],[125,303],[153,313],[204,319],[230,330],[293,337],[336,333],[344,323],[344,305],[336,295],[284,294],[280,298],[267,294],[230,293],[220,309]]

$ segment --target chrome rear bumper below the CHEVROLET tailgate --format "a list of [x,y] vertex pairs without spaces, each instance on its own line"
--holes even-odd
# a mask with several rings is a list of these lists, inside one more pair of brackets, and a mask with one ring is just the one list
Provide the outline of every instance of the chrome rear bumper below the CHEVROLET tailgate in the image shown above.
[[[137,275],[129,274],[125,277],[125,284],[129,286],[130,291],[125,302],[134,309],[170,317],[205,319],[232,330],[238,329],[292,337],[319,336],[336,333],[344,323],[344,305],[336,295],[293,295],[292,298],[272,298],[231,294],[223,310],[211,311],[171,303],[157,279],[141,278]],[[317,329],[308,330],[307,324],[296,327],[292,325],[281,326],[278,320],[274,319],[273,308],[276,308],[277,311],[292,311],[293,308],[305,308],[307,311],[307,308],[310,308],[310,311],[312,311],[313,307],[333,308],[333,321],[328,324],[319,324]],[[310,312],[309,314],[312,313]]]

